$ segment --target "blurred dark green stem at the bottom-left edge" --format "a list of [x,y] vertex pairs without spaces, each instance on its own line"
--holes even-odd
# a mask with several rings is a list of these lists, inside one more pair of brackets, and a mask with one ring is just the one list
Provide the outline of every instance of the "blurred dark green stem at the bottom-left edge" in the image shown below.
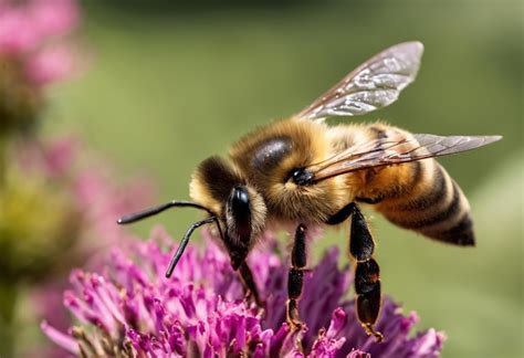
[[14,357],[15,315],[18,289],[15,285],[0,283],[0,357]]

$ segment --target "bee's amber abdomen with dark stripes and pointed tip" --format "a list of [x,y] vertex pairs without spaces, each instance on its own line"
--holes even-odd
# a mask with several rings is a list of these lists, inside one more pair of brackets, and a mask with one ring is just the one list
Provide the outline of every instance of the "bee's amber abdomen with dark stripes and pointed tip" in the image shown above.
[[434,159],[388,167],[375,176],[371,181],[390,180],[375,206],[389,221],[439,241],[474,244],[468,199]]

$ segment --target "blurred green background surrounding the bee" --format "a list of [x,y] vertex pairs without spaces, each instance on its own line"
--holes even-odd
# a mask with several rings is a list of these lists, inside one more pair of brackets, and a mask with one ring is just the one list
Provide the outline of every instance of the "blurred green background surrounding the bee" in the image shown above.
[[[384,289],[444,330],[443,357],[523,355],[523,2],[84,1],[90,66],[53,92],[45,130],[74,130],[126,173],[187,199],[196,165],[289,116],[398,42],[426,45],[417,81],[381,118],[413,133],[499,134],[441,160],[469,196],[478,246],[447,246],[374,219]],[[333,123],[336,123],[334,120]],[[153,203],[151,203],[153,204]],[[373,214],[373,213],[370,213]],[[179,236],[198,213],[160,222]],[[337,244],[329,233],[315,248]]]

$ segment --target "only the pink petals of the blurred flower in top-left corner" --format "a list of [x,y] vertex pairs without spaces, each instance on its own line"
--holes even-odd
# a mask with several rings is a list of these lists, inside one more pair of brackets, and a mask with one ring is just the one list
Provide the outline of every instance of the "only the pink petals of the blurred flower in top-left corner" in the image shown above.
[[22,63],[36,85],[60,80],[72,70],[63,42],[78,20],[73,0],[0,0],[0,56]]

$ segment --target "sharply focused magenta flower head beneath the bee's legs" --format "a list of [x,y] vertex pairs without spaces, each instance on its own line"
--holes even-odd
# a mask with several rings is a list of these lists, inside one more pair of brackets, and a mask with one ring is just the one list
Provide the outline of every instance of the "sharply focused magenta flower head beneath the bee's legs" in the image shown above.
[[436,357],[444,336],[429,329],[410,338],[417,316],[402,316],[385,298],[377,325],[386,339],[367,337],[344,298],[352,282],[329,250],[305,280],[300,302],[306,327],[284,323],[287,264],[274,253],[275,240],[250,254],[249,264],[265,308],[247,303],[228,255],[210,239],[202,251],[186,250],[170,280],[164,271],[172,249],[160,229],[147,242],[114,250],[98,273],[74,271],[64,305],[80,325],[62,333],[42,324],[57,345],[76,355],[226,357]]

